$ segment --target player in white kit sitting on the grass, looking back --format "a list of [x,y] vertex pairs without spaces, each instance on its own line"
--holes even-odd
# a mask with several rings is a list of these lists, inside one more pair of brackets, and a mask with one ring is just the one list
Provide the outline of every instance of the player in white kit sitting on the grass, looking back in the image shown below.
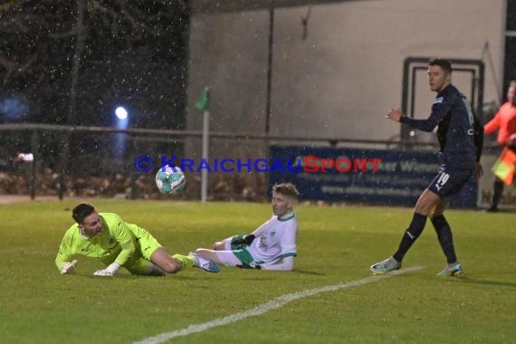
[[291,183],[272,186],[272,217],[253,233],[216,242],[196,253],[209,261],[244,269],[291,271],[297,255],[298,221],[294,204],[299,192]]

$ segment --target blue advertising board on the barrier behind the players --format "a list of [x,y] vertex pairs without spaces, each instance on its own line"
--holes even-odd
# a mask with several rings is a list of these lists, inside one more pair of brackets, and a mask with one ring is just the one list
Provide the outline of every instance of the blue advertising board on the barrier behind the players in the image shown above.
[[[358,148],[272,146],[271,186],[291,182],[301,199],[376,205],[415,205],[438,170],[435,152]],[[475,207],[477,182],[472,180],[451,205]]]

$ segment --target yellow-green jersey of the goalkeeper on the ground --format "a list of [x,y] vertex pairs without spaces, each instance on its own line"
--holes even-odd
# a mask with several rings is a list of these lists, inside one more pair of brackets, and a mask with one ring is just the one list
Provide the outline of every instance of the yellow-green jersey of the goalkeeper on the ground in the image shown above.
[[[65,263],[71,262],[78,255],[97,258],[106,265],[114,262],[128,267],[141,257],[148,259],[159,246],[156,239],[145,229],[124,222],[119,215],[112,213],[99,215],[102,224],[100,235],[88,238],[81,234],[78,224],[68,228],[55,257],[55,264],[60,271]],[[146,244],[149,247],[145,247],[142,251],[141,243],[147,242],[148,239],[155,244]]]

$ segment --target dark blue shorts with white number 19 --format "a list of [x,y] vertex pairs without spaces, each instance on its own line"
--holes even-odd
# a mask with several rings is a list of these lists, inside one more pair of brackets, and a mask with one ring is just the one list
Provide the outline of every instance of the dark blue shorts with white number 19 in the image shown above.
[[473,168],[453,169],[441,165],[439,173],[427,187],[441,197],[453,196],[461,191],[473,175]]

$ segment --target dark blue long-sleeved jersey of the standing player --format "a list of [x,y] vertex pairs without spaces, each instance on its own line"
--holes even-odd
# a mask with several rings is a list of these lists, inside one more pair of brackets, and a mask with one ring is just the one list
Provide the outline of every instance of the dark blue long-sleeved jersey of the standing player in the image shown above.
[[437,126],[437,140],[443,153],[443,163],[458,169],[474,167],[477,149],[474,142],[473,111],[469,101],[454,85],[450,84],[437,93],[432,112],[427,119],[403,116],[400,121],[422,131],[432,131]]

